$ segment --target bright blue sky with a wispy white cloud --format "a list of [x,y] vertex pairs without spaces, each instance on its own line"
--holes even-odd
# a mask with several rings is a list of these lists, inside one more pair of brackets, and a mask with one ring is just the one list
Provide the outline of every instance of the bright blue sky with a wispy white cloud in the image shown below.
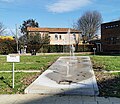
[[120,0],[0,0],[0,22],[15,29],[35,19],[40,27],[71,28],[86,11],[97,10],[103,22],[120,18]]

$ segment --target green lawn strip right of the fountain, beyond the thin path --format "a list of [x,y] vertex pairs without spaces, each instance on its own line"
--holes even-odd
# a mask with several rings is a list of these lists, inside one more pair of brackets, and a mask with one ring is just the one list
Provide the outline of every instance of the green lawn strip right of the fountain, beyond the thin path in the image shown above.
[[120,70],[120,56],[91,56],[94,69]]

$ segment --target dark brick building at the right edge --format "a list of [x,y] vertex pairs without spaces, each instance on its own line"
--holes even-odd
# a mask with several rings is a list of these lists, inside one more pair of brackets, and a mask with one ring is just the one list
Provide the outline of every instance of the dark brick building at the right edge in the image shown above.
[[120,52],[120,20],[101,25],[103,52]]

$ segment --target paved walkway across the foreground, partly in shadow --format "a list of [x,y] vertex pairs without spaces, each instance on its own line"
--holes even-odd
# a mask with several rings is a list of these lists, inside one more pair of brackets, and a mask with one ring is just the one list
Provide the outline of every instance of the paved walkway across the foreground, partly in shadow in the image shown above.
[[0,95],[0,104],[120,104],[120,98],[15,94]]

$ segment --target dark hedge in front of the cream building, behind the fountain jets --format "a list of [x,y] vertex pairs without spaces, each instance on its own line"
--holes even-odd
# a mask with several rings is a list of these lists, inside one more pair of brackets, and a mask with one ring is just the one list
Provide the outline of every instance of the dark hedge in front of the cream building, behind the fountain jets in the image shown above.
[[[75,52],[93,52],[93,44],[85,44],[85,45],[78,45],[78,48]],[[40,45],[27,45],[27,52],[31,52],[31,50],[36,50],[37,53],[59,53],[59,52],[69,52],[70,46],[69,45],[48,45],[44,44]]]

